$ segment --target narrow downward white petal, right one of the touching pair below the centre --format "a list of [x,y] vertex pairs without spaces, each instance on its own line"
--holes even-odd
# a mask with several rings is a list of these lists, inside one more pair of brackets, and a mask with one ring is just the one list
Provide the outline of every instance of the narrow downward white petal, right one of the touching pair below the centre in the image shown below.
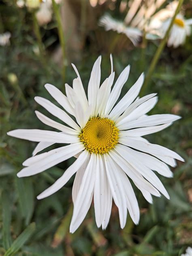
[[109,186],[109,182],[107,179],[107,173],[106,173],[106,168],[105,168],[105,160],[103,155],[101,156],[102,158],[102,165],[103,165],[103,179],[104,179],[104,184],[105,184],[105,194],[104,194],[104,199],[102,202],[102,207],[104,204],[104,213],[103,213],[103,219],[102,219],[102,229],[105,230],[107,228],[107,225],[109,223],[109,219],[111,216],[111,207],[112,207],[112,194],[111,194],[111,189]]

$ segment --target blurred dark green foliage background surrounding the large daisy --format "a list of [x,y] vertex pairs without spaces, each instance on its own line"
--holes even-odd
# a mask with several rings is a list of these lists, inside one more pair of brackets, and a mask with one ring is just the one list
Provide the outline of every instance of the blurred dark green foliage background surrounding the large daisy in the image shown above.
[[[0,46],[0,255],[7,251],[5,255],[22,256],[176,256],[192,246],[192,36],[179,48],[165,47],[145,90],[145,94],[157,92],[159,96],[151,114],[182,116],[168,129],[146,138],[176,151],[186,162],[178,162],[172,168],[173,179],[160,177],[170,200],[154,197],[153,205],[149,205],[134,187],[141,211],[139,225],[134,225],[128,217],[126,227],[121,230],[117,207],[113,204],[109,225],[102,231],[96,227],[92,205],[80,228],[70,234],[74,176],[54,195],[40,201],[36,196],[53,184],[73,159],[32,177],[16,176],[36,143],[8,137],[6,132],[17,128],[47,129],[34,114],[38,109],[47,115],[34,96],[52,101],[45,83],[52,83],[64,92],[64,83],[71,85],[76,77],[71,62],[77,66],[86,89],[99,54],[102,81],[110,74],[109,53],[112,52],[116,78],[125,66],[131,65],[122,95],[141,72],[147,72],[159,41],[148,42],[146,48],[141,42],[135,48],[124,35],[105,32],[97,25],[105,11],[123,19],[126,11],[119,11],[121,2],[91,1],[92,6],[88,0],[60,3],[65,59],[54,14],[51,22],[40,27],[32,10],[19,8],[16,1],[0,2],[0,33],[11,33],[10,44]],[[185,1],[183,7],[186,18],[191,18],[192,2]]]

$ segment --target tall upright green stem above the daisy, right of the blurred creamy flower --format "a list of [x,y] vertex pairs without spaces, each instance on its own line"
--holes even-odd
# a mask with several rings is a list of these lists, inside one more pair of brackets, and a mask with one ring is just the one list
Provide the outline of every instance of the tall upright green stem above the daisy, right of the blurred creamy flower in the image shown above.
[[53,4],[53,11],[55,13],[55,17],[57,20],[59,40],[60,40],[62,53],[63,53],[62,78],[63,78],[63,81],[65,81],[65,37],[64,37],[64,32],[63,32],[63,28],[62,28],[60,7],[58,6],[58,4],[55,3],[55,0],[52,0],[52,4]]

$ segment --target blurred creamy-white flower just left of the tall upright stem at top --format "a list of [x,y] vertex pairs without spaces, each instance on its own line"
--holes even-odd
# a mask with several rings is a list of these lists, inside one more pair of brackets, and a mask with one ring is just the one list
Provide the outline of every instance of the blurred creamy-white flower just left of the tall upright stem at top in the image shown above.
[[45,25],[51,21],[52,8],[49,2],[44,2],[41,4],[40,8],[36,12],[36,18],[40,26]]

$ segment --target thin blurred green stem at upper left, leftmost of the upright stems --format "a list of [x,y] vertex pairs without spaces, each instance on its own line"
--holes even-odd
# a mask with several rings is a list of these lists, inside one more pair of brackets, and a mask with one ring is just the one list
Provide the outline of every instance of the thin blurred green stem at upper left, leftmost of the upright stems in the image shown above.
[[35,14],[34,11],[32,12],[32,18],[33,18],[34,33],[36,35],[37,44],[38,44],[38,48],[39,48],[39,52],[40,52],[41,63],[43,65],[43,67],[45,68],[45,70],[47,70],[44,45],[43,45],[43,42],[42,42],[42,39],[41,39],[40,28],[39,28],[38,21],[37,21],[37,18],[36,18],[36,14]]

